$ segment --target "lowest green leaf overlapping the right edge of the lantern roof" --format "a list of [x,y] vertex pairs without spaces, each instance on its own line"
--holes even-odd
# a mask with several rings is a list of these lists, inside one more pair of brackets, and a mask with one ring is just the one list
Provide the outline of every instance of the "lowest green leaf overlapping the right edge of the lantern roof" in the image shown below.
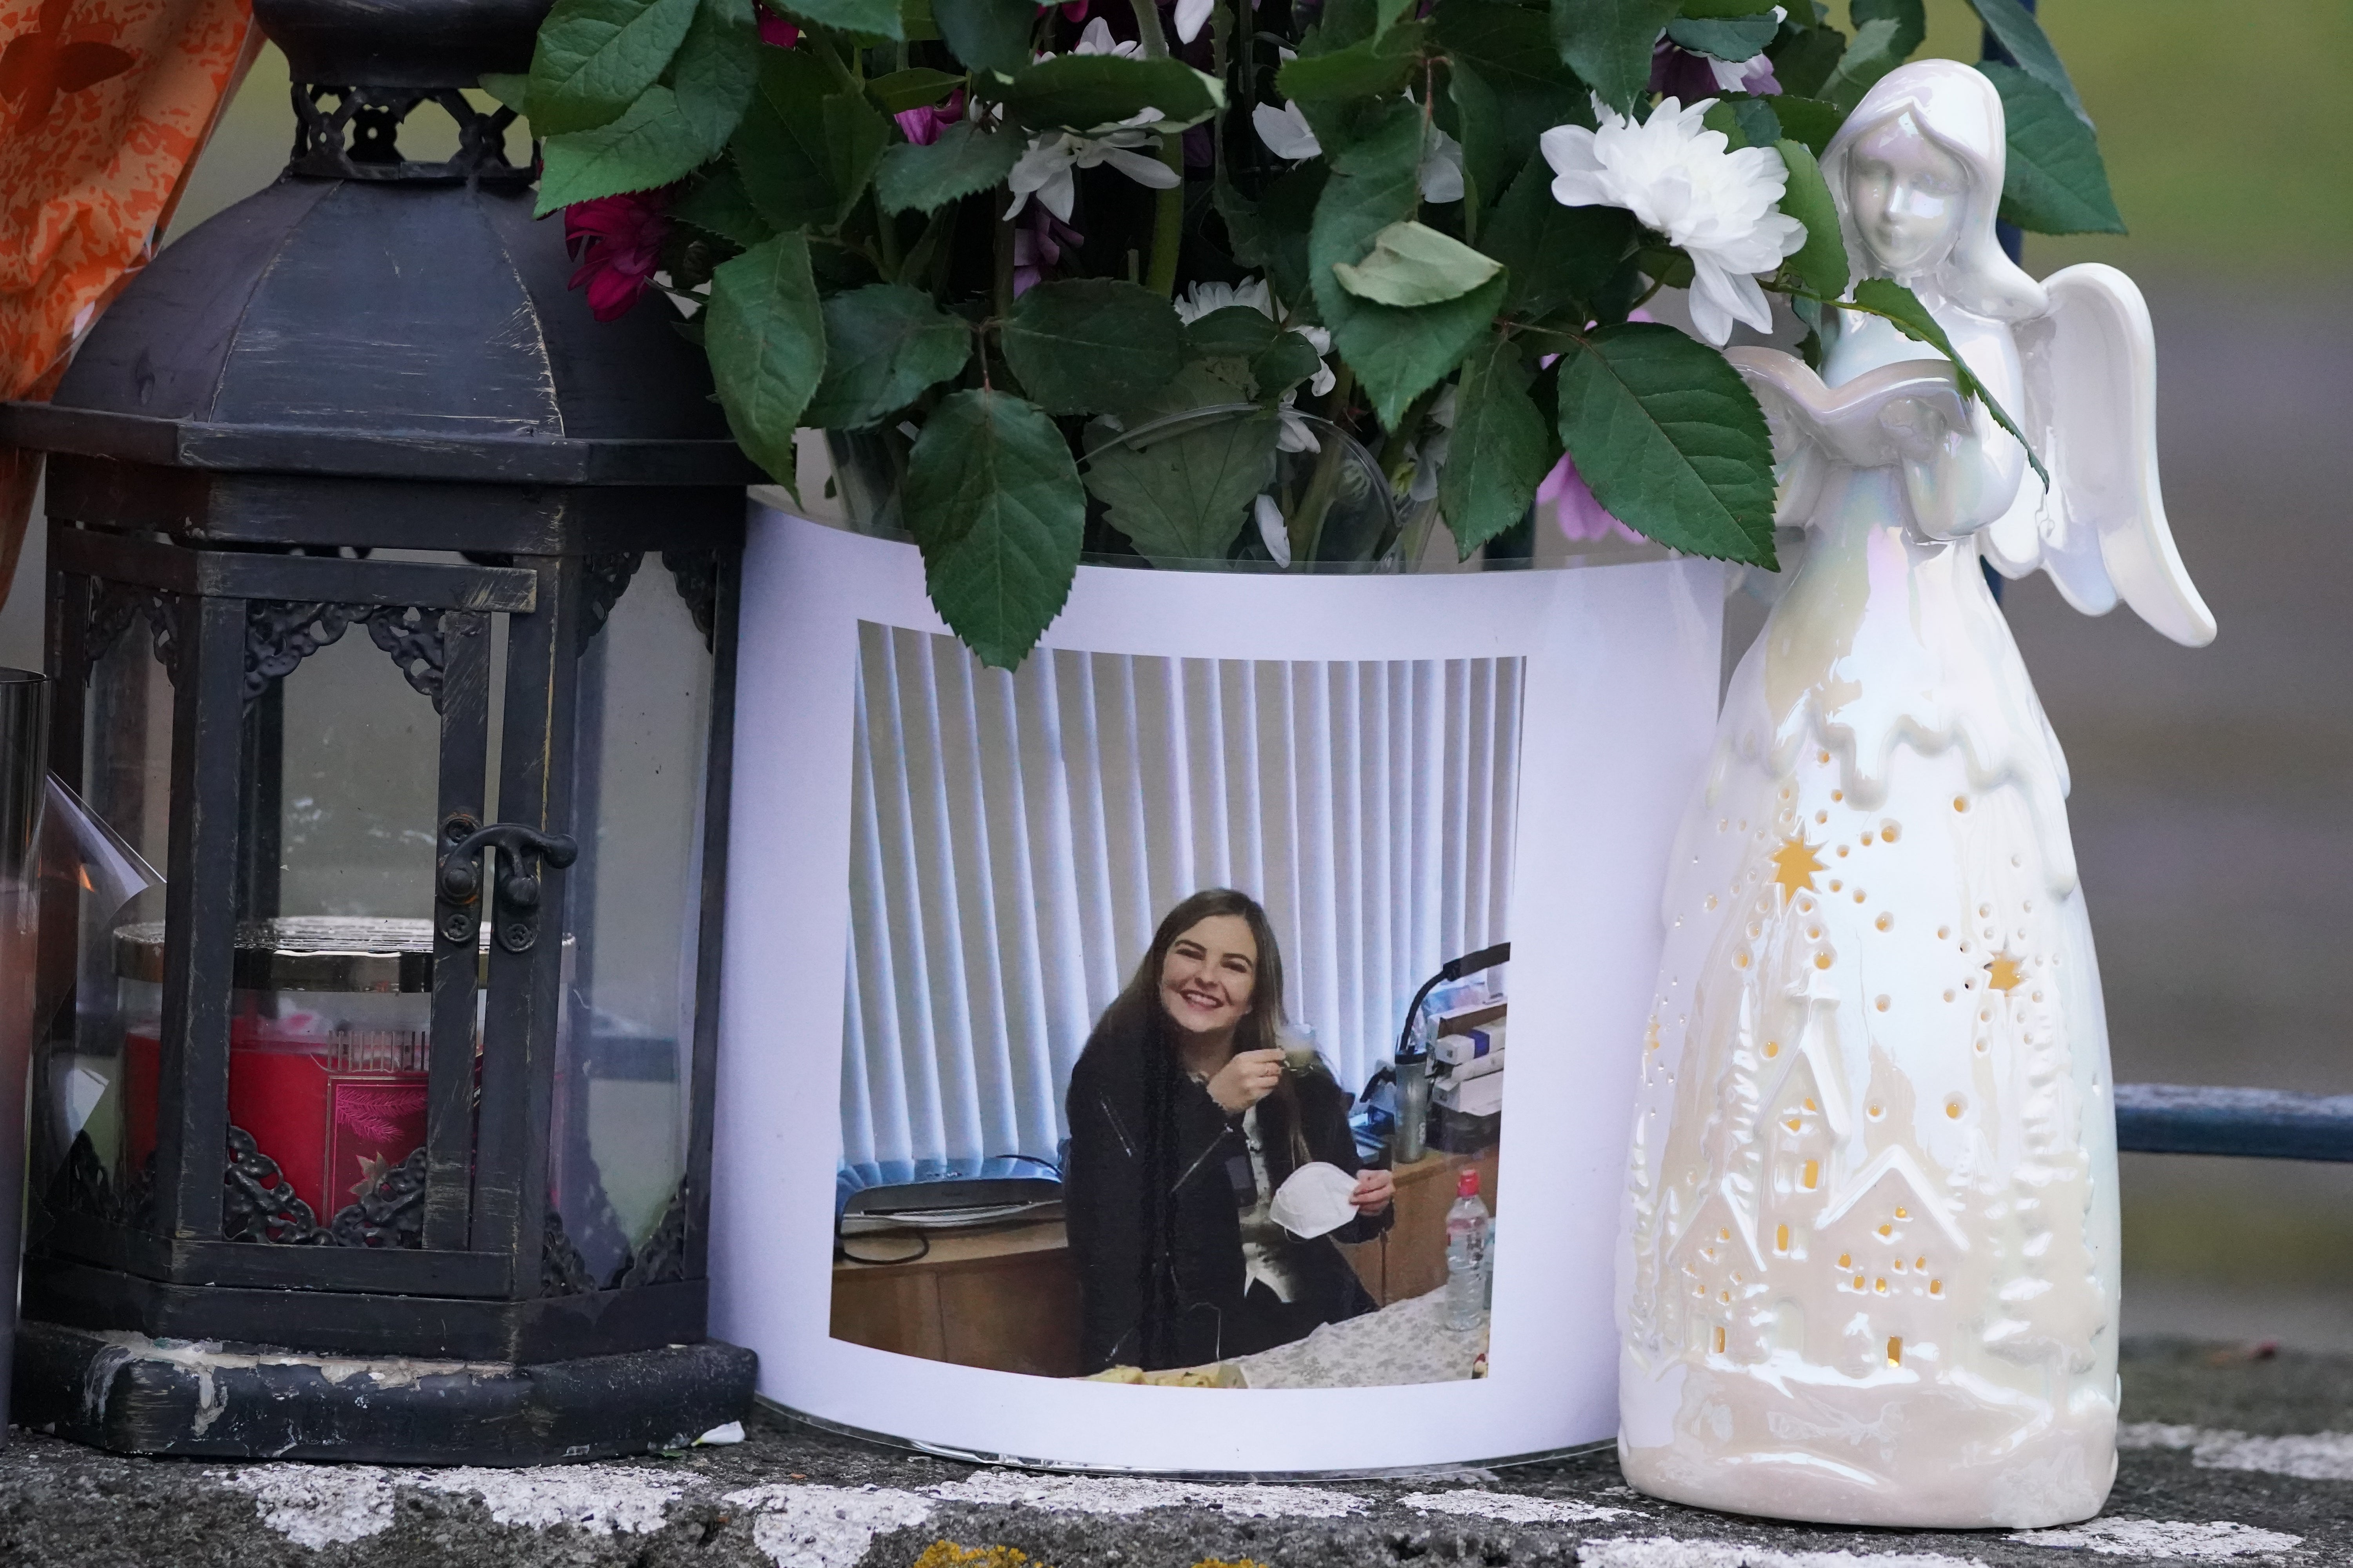
[[807,237],[776,235],[711,273],[704,348],[736,444],[791,489],[793,430],[826,374]]

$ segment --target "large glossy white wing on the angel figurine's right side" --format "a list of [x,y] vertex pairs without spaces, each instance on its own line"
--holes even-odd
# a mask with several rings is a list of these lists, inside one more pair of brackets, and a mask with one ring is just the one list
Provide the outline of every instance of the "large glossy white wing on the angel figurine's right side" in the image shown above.
[[2141,289],[2087,261],[2045,282],[2049,313],[2017,329],[2026,369],[2021,428],[2052,470],[1979,538],[2002,576],[2035,567],[2059,595],[2104,616],[2122,599],[2186,646],[2214,642],[2158,491],[2158,346]]

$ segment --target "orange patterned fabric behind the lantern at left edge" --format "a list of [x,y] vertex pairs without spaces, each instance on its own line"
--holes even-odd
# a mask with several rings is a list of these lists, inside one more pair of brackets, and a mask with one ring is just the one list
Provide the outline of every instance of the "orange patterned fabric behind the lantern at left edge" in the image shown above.
[[[249,0],[0,0],[0,400],[56,390],[259,42]],[[0,447],[0,595],[38,480]]]

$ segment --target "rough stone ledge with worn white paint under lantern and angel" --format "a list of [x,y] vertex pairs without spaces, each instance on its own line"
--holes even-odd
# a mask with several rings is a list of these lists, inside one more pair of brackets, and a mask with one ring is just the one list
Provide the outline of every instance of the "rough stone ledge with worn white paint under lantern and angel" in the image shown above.
[[[2073,1530],[1828,1530],[1631,1493],[1609,1453],[1231,1486],[984,1469],[781,1425],[675,1460],[532,1472],[0,1453],[9,1568],[2031,1568],[2353,1563],[2353,1356],[2148,1340],[2108,1512]],[[941,1544],[946,1542],[946,1544]]]

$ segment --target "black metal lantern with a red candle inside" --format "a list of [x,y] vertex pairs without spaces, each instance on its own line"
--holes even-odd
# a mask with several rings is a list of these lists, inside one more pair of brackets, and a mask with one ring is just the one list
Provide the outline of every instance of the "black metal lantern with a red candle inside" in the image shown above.
[[567,294],[513,115],[459,94],[546,0],[256,9],[287,174],[0,428],[49,454],[52,764],[162,867],[45,931],[16,1420],[668,1446],[751,1399],[704,1239],[758,475],[666,303]]

